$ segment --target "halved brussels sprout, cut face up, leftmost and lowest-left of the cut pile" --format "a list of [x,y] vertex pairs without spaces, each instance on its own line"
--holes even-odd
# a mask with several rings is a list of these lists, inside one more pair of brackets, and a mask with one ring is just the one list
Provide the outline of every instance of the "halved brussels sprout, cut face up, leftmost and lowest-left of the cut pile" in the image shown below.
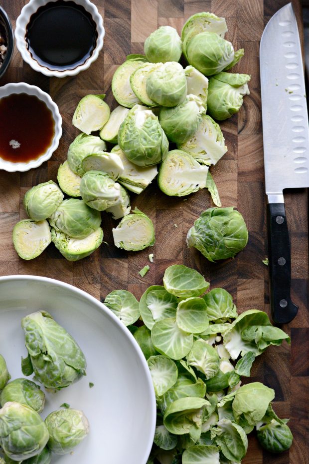
[[51,242],[48,222],[23,219],[13,228],[13,244],[22,259],[39,256]]

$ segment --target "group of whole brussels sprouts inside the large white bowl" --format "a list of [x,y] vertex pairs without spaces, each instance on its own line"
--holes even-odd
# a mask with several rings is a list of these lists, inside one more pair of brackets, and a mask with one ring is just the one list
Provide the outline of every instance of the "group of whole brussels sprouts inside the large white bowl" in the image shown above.
[[[28,356],[21,361],[24,376],[46,389],[68,387],[86,375],[86,359],[76,341],[46,311],[21,320]],[[10,382],[0,355],[0,464],[49,464],[52,453],[72,453],[87,436],[89,423],[82,411],[64,403],[41,419],[45,394],[34,382]]]

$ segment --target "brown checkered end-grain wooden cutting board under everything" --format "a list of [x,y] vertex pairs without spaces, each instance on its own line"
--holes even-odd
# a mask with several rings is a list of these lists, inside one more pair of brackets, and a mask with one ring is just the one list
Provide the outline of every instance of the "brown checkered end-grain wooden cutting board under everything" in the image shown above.
[[[63,118],[63,136],[52,158],[40,168],[25,173],[0,171],[0,275],[47,276],[75,285],[101,301],[114,289],[128,289],[140,298],[152,284],[161,284],[167,266],[184,263],[199,270],[211,288],[223,287],[234,297],[238,311],[257,308],[269,312],[259,41],[264,25],[288,0],[93,0],[104,16],[104,51],[91,67],[76,77],[48,78],[23,63],[17,49],[8,72],[0,81],[25,81],[48,92],[58,104]],[[13,25],[24,0],[2,0]],[[295,3],[301,26],[300,4]],[[33,185],[56,180],[60,162],[66,159],[69,144],[78,131],[71,120],[79,99],[88,93],[106,93],[106,101],[116,106],[110,84],[113,73],[129,53],[143,53],[143,42],[158,26],[171,25],[181,31],[184,20],[199,11],[226,17],[226,38],[234,47],[245,48],[238,72],[251,74],[250,95],[244,98],[239,114],[220,124],[228,152],[212,169],[222,206],[235,206],[249,230],[246,249],[233,260],[209,263],[197,251],[186,247],[189,227],[206,208],[213,206],[206,190],[183,198],[167,197],[153,185],[141,195],[132,195],[133,207],[148,214],[155,224],[156,243],[152,249],[127,253],[113,245],[116,222],[103,214],[105,240],[93,255],[70,263],[50,245],[37,259],[23,261],[14,251],[11,234],[14,224],[26,214],[24,193]],[[234,70],[234,69],[233,69]],[[5,121],[0,121],[5,124]],[[38,128],[39,130],[39,128]],[[291,334],[291,347],[271,347],[260,356],[250,381],[261,381],[275,389],[274,408],[281,417],[290,417],[294,444],[290,452],[272,456],[263,452],[251,434],[243,464],[308,464],[308,196],[306,190],[285,195],[292,242],[292,297],[299,305],[295,320],[284,329]],[[154,253],[154,263],[148,254]],[[151,269],[144,277],[138,271]]]

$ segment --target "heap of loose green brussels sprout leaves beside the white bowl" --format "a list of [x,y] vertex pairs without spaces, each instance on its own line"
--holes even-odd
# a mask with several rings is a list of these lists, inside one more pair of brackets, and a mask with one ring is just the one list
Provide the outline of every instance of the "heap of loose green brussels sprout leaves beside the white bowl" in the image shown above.
[[126,290],[105,298],[151,372],[157,422],[148,464],[240,463],[254,429],[271,453],[292,445],[288,420],[272,408],[274,390],[260,382],[241,385],[257,356],[290,337],[264,311],[238,315],[226,290],[205,294],[208,287],[196,270],[173,265],[163,285],[149,287],[140,302]]

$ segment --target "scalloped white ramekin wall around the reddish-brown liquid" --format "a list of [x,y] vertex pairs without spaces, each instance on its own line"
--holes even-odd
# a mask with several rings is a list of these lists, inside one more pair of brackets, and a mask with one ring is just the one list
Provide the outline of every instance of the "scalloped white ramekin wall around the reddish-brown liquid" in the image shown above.
[[[12,95],[14,93],[27,93],[28,95],[35,95],[41,101],[44,101],[47,108],[52,113],[52,118],[55,124],[54,136],[51,141],[51,144],[49,145],[45,153],[43,153],[37,159],[33,159],[25,163],[12,163],[11,161],[6,161],[0,158],[0,169],[4,169],[8,172],[24,172],[28,171],[29,169],[33,169],[35,167],[40,166],[44,161],[47,161],[51,157],[53,152],[58,148],[59,140],[62,135],[62,117],[60,116],[59,109],[56,103],[50,98],[48,93],[43,92],[39,87],[36,87],[35,85],[26,84],[25,82],[19,82],[17,84],[10,83],[3,85],[3,87],[0,87],[0,99],[3,97],[7,97],[8,95]],[[3,123],[5,124],[5,121],[3,121]],[[18,121],[16,121],[16,124],[17,123]],[[22,121],[19,121],[19,123],[22,124]]]

